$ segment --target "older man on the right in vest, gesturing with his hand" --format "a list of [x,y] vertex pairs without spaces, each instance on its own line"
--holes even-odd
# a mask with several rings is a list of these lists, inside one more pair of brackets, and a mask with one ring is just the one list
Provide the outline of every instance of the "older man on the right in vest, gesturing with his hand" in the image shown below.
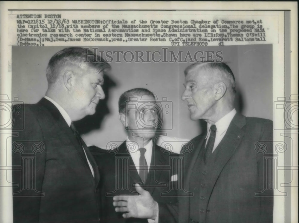
[[188,66],[184,86],[190,118],[207,122],[184,153],[184,189],[191,196],[179,196],[177,205],[157,205],[146,191],[138,199],[116,196],[118,211],[157,220],[157,212],[170,210],[181,223],[272,222],[272,122],[237,114],[234,75],[225,63]]

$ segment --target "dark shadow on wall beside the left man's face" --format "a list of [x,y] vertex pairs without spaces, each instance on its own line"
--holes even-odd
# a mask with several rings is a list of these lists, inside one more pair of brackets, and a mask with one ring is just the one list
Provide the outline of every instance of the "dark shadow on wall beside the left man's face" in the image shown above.
[[107,75],[104,75],[104,85],[102,86],[102,88],[105,93],[105,98],[103,100],[100,100],[93,115],[88,115],[83,119],[74,122],[80,134],[86,134],[89,131],[101,128],[104,117],[110,113],[107,106],[107,102],[109,100],[109,90],[116,85],[117,84],[114,80],[112,80]]

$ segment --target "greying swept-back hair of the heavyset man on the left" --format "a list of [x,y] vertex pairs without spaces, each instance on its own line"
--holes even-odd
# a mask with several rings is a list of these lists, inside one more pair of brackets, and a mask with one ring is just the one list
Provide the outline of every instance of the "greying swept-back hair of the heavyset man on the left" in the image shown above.
[[65,66],[79,67],[82,69],[96,69],[99,72],[110,69],[111,66],[96,52],[81,47],[69,47],[55,53],[46,70],[48,84],[55,83],[60,74],[60,69]]

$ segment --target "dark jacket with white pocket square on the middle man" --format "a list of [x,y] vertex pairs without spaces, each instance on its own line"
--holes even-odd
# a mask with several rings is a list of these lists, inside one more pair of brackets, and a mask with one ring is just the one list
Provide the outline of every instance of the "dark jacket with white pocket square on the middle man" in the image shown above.
[[[94,154],[94,153],[93,153]],[[147,219],[124,219],[121,213],[115,212],[115,207],[112,205],[113,196],[120,194],[135,194],[134,183],[141,182],[140,176],[136,170],[134,162],[127,151],[126,142],[122,143],[113,153],[105,155],[95,156],[98,162],[101,174],[102,195],[101,198],[103,207],[103,216],[106,222],[147,222]],[[123,160],[123,164],[120,164],[120,160]],[[120,164],[120,165],[119,165]],[[127,170],[127,171],[125,171]],[[129,171],[128,171],[129,170]],[[119,172],[117,172],[119,171]],[[141,186],[149,191],[155,201],[159,204],[172,204],[177,202],[176,191],[170,191],[171,175],[174,175],[170,171],[170,154],[158,145],[153,143],[152,159],[150,163],[150,169],[145,184]],[[128,180],[125,180],[128,177]],[[103,181],[102,181],[103,180]],[[121,182],[123,183],[121,183]],[[123,185],[124,187],[122,188]],[[166,196],[161,195],[162,192],[168,192]],[[105,200],[104,200],[105,199]],[[164,212],[160,215],[159,222],[174,222],[173,216],[169,212]]]

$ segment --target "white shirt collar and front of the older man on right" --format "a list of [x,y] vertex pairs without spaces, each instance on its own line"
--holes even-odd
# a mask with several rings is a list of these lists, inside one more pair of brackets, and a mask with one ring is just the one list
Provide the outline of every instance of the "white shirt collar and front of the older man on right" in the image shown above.
[[[221,142],[221,140],[223,139],[223,137],[225,136],[225,133],[228,129],[228,126],[231,124],[231,120],[233,120],[235,114],[237,113],[236,109],[231,110],[230,112],[228,112],[228,114],[226,114],[225,116],[223,116],[221,119],[219,119],[215,125],[216,125],[216,137],[215,137],[215,143],[214,143],[214,147],[213,147],[213,151],[216,149],[216,147],[219,145],[219,143]],[[208,134],[206,136],[206,145],[208,143],[208,139],[210,137],[211,131],[211,124],[208,123],[207,129],[208,129]]]

